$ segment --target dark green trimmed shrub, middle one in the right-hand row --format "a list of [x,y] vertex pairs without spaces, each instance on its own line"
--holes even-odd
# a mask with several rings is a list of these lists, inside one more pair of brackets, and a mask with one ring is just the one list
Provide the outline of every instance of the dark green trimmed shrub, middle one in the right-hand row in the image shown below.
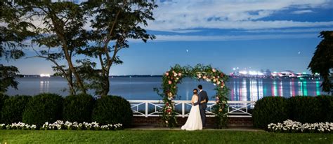
[[289,119],[301,123],[320,121],[320,101],[313,96],[294,96],[288,99]]

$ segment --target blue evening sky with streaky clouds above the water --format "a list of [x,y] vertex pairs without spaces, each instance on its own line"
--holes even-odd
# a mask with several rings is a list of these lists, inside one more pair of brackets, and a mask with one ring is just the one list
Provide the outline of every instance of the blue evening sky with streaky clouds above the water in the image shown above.
[[[308,73],[320,31],[333,30],[333,1],[161,0],[157,5],[156,20],[145,28],[157,39],[130,40],[130,48],[119,52],[124,64],[112,67],[111,75],[159,75],[174,64],[211,64],[225,73],[235,67]],[[18,66],[21,74],[53,73],[52,63],[40,58],[1,63]]]

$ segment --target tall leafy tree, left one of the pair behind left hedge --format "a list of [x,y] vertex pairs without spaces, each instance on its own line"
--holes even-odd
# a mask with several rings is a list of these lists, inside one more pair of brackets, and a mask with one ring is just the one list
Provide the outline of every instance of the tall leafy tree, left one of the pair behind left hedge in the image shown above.
[[[35,57],[44,58],[55,65],[55,74],[67,80],[71,94],[77,91],[86,94],[84,79],[73,62],[78,48],[88,43],[84,10],[79,4],[67,1],[26,1],[22,6],[27,9],[26,17],[33,17],[33,21],[41,19],[42,24],[34,25],[37,27],[34,32],[38,36],[34,37],[33,42],[40,48],[46,47],[46,50],[34,50],[37,53]],[[61,65],[64,59],[67,64]]]

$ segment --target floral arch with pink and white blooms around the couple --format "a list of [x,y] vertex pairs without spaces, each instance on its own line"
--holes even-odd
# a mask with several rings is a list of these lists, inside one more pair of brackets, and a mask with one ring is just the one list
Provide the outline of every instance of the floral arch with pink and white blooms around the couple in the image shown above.
[[176,127],[176,111],[174,106],[174,99],[177,96],[178,87],[177,84],[181,83],[182,79],[195,78],[197,80],[206,80],[216,85],[216,94],[213,96],[216,98],[216,105],[213,111],[217,117],[217,127],[223,128],[227,124],[227,106],[228,100],[228,87],[225,82],[228,80],[228,75],[222,73],[218,69],[212,68],[210,65],[204,66],[197,64],[194,67],[191,66],[180,66],[176,64],[171,67],[169,71],[166,71],[162,77],[162,87],[159,89],[155,88],[155,91],[159,96],[162,96],[164,107],[162,108],[162,120],[166,127]]

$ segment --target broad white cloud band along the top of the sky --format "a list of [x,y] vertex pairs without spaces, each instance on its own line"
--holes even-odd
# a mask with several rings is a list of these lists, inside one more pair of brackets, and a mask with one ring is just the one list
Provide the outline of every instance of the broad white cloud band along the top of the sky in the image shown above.
[[[332,26],[333,22],[298,22],[294,20],[267,19],[280,15],[283,10],[294,13],[309,13],[311,8],[323,8],[326,0],[262,0],[262,1],[200,1],[173,0],[159,1],[154,10],[155,21],[147,29],[172,31],[175,29],[276,29],[285,27]],[[299,8],[306,10],[297,10]],[[326,7],[325,7],[326,8]],[[287,13],[286,13],[287,14]],[[282,13],[285,15],[285,13]],[[263,20],[263,18],[266,18]]]

